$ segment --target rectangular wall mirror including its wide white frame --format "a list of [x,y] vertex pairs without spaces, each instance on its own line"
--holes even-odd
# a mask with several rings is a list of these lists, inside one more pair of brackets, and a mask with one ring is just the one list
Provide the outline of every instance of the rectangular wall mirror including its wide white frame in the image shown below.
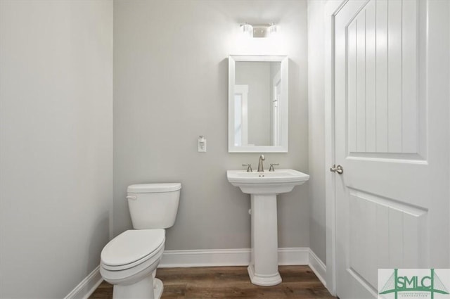
[[288,152],[288,57],[229,56],[229,153]]

